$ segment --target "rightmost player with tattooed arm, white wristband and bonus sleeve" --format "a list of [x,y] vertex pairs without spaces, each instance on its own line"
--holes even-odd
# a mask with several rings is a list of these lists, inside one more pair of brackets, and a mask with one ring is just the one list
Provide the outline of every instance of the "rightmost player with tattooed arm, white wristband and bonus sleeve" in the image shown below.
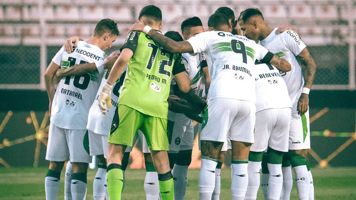
[[[276,29],[270,28],[258,9],[242,11],[238,19],[244,35],[251,40],[259,40],[261,45],[285,58],[292,65],[288,73],[281,73],[286,81],[292,101],[292,118],[289,131],[289,151],[284,156],[289,160],[296,174],[299,199],[309,199],[311,173],[308,173],[307,155],[310,148],[309,130],[309,91],[313,84],[316,65],[305,44],[292,30],[276,35]],[[302,69],[302,65],[305,68]],[[292,177],[290,164],[283,163],[283,176]],[[287,183],[283,181],[283,183]],[[284,186],[283,186],[284,187]],[[281,199],[289,199],[292,184],[283,189]],[[314,197],[310,197],[313,199]]]

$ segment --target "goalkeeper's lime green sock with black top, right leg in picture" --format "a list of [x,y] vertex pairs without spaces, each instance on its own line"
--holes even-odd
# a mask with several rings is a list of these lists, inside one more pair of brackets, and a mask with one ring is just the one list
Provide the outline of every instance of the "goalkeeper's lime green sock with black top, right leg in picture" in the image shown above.
[[162,200],[174,200],[174,182],[172,172],[158,174],[159,192]]

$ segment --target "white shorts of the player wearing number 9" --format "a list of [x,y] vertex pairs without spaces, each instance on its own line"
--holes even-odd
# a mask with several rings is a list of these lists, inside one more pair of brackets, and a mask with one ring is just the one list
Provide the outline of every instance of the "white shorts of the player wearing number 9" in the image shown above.
[[256,105],[253,102],[212,99],[208,102],[208,110],[204,114],[200,140],[225,142],[230,135],[233,141],[253,143],[255,119]]

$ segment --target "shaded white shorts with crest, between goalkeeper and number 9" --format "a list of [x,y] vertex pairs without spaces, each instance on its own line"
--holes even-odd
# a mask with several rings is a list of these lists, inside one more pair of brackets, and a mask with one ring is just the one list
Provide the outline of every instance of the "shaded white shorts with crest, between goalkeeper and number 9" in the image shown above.
[[[173,126],[173,127],[168,127]],[[178,153],[180,150],[193,149],[194,142],[194,126],[190,122],[188,126],[168,121],[167,132],[172,132],[168,137],[169,153]]]

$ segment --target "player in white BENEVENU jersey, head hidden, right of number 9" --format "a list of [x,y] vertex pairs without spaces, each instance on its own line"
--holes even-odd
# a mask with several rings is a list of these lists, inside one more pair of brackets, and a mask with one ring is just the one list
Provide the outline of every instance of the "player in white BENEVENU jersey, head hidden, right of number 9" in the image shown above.
[[283,184],[283,152],[288,152],[292,102],[288,96],[286,83],[280,75],[279,70],[271,64],[260,62],[256,62],[255,64],[255,143],[252,144],[248,156],[248,186],[245,199],[254,200],[257,198],[257,191],[260,187],[262,156],[268,147],[267,165],[270,175],[267,199],[278,200]]

